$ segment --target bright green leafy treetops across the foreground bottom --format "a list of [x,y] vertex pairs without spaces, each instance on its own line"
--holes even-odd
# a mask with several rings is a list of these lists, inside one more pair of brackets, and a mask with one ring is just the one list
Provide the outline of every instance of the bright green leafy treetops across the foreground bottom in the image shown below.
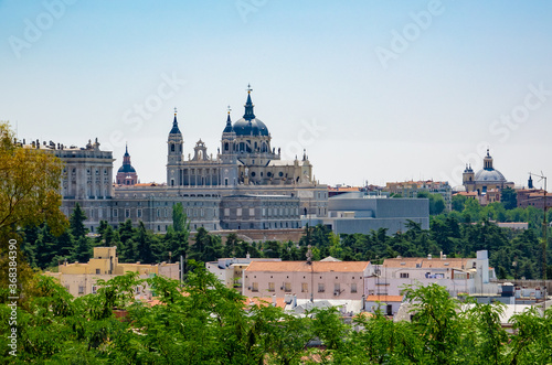
[[[407,288],[412,322],[381,312],[344,324],[337,310],[295,318],[244,298],[194,266],[183,287],[148,279],[161,304],[134,300],[140,280],[116,277],[97,294],[72,298],[36,275],[18,309],[18,357],[0,337],[1,363],[40,364],[546,364],[552,359],[552,311],[500,325],[502,307],[461,303],[436,285]],[[124,320],[114,310],[125,310]],[[0,305],[0,331],[10,309]],[[311,346],[321,343],[321,346]]]

